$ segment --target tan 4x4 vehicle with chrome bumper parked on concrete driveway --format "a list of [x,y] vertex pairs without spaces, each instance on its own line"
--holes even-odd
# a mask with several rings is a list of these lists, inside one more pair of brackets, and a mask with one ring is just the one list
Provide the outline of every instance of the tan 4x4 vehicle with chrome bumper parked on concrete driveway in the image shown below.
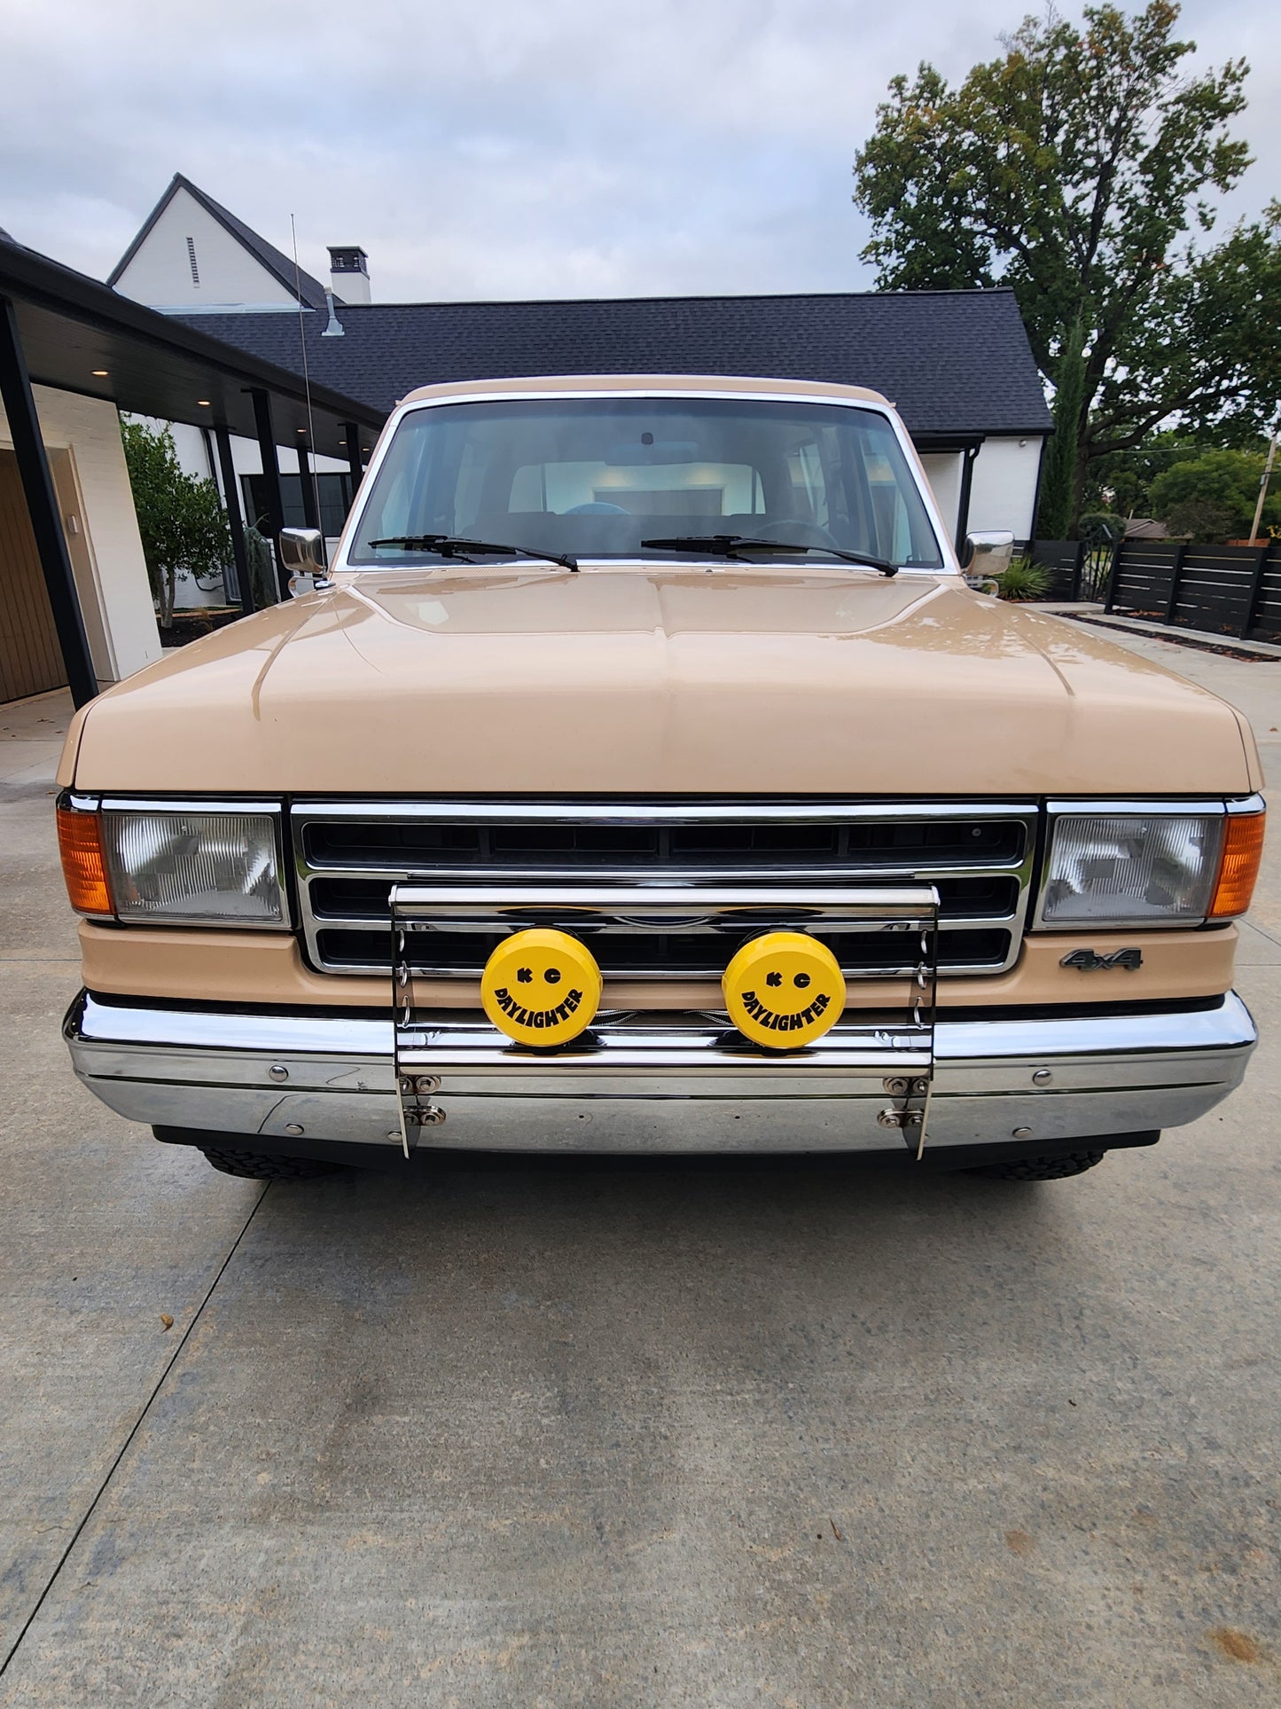
[[67,738],[65,1036],[159,1138],[1049,1179],[1240,1082],[1247,725],[974,591],[876,393],[425,388],[282,554]]

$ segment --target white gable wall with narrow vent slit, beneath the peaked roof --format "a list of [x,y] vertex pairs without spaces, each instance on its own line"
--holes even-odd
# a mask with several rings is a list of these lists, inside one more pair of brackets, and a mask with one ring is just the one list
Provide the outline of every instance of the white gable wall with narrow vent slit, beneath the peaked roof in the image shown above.
[[[200,284],[191,279],[186,239],[196,251]],[[154,309],[294,308],[285,291],[225,226],[179,188],[116,280],[121,296]]]

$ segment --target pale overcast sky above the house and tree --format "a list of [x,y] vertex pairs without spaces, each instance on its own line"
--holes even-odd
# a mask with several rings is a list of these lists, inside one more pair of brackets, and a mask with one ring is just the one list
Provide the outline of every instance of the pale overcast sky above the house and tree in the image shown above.
[[[104,277],[174,171],[377,301],[868,289],[851,164],[895,72],[992,58],[1020,0],[3,0],[0,227]],[[1061,9],[1076,15],[1069,0]],[[1189,0],[1245,55],[1281,193],[1274,0]]]

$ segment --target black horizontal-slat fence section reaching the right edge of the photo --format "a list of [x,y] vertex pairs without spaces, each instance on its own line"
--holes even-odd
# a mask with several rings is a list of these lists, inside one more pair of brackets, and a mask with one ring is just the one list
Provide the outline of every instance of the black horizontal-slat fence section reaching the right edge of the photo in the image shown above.
[[1177,629],[1281,639],[1281,542],[1127,540],[1112,557],[1105,605]]

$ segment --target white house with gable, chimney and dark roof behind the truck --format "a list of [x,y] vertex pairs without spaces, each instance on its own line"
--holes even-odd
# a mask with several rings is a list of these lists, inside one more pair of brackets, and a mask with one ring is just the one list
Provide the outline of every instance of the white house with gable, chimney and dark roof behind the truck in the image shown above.
[[[1032,537],[1052,422],[1011,291],[371,302],[364,250],[333,246],[330,267],[330,287],[295,272],[176,176],[109,282],[282,367],[301,371],[306,345],[313,379],[383,412],[413,386],[504,374],[760,374],[873,386],[898,405],[955,538],[968,528]],[[254,455],[237,448],[239,473],[253,475]],[[184,456],[198,467],[190,439]],[[295,463],[282,468],[292,497]],[[338,470],[325,465],[325,473],[336,518],[345,487]]]

